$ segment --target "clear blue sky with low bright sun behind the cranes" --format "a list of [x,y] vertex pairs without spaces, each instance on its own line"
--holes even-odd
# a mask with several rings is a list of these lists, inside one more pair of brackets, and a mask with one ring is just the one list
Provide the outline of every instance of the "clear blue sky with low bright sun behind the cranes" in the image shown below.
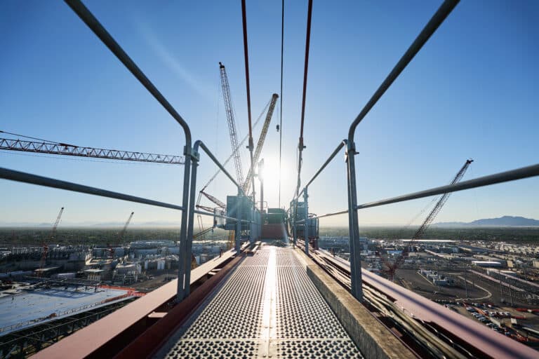
[[[314,1],[305,182],[441,1]],[[227,67],[237,126],[247,133],[239,1],[86,1],[88,8],[223,160],[230,144],[218,62]],[[300,128],[307,1],[286,1],[281,205],[291,198]],[[281,1],[248,1],[253,121],[279,92]],[[537,163],[539,69],[536,1],[463,1],[356,133],[358,201]],[[0,130],[81,146],[181,154],[184,135],[138,81],[61,1],[0,2]],[[278,113],[278,111],[276,112]],[[265,194],[277,207],[274,116],[262,157]],[[255,129],[255,141],[260,126]],[[244,153],[244,172],[248,161]],[[0,151],[2,167],[180,203],[183,168]],[[229,169],[233,172],[232,163]],[[202,156],[197,189],[215,167]],[[311,212],[346,206],[340,155],[310,189]],[[234,189],[222,175],[209,192]],[[173,210],[2,180],[0,222],[179,222]],[[539,218],[539,179],[453,194],[437,221]],[[430,199],[360,212],[360,224],[406,223]],[[321,224],[346,224],[345,216]]]

